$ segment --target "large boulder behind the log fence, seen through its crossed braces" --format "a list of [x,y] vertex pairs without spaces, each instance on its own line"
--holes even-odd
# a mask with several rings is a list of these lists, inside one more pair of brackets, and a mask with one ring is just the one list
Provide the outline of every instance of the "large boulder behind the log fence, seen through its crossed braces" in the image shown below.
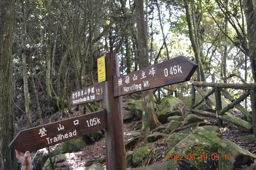
[[[203,88],[202,90],[204,91],[204,94],[207,94],[210,91],[210,89],[208,89],[208,88]],[[201,99],[202,99],[202,96],[196,91],[195,103],[197,103]],[[208,99],[210,99],[212,101],[212,103],[214,103],[214,105],[216,105],[214,94],[210,95],[208,97]],[[191,108],[191,95],[187,96],[184,99],[184,103],[188,108]],[[226,98],[221,96],[222,108],[226,107],[229,103],[230,103],[229,100],[227,100]],[[202,102],[201,104],[199,104],[195,109],[204,110],[204,111],[213,112],[213,113],[216,112],[210,106],[208,106],[205,101]]]

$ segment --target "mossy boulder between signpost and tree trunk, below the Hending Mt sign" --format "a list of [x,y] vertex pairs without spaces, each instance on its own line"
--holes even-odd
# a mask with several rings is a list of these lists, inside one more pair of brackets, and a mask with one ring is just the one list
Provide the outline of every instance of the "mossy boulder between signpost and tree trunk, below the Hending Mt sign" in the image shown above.
[[140,100],[129,99],[128,106],[126,106],[132,114],[136,115],[138,119],[142,119],[142,102]]

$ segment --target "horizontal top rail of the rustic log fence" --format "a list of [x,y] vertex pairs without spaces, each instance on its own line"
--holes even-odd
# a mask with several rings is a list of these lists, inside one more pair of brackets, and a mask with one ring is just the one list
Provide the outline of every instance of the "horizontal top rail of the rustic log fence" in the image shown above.
[[241,90],[255,90],[256,89],[256,83],[251,83],[251,84],[230,84],[230,83],[192,82],[192,86],[233,88],[233,89],[241,89]]

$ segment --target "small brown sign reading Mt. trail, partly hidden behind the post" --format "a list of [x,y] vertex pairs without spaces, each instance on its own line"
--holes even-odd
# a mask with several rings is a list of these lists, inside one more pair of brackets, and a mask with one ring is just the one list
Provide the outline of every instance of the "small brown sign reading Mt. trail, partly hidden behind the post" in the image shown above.
[[69,100],[72,105],[102,100],[102,83],[73,91]]

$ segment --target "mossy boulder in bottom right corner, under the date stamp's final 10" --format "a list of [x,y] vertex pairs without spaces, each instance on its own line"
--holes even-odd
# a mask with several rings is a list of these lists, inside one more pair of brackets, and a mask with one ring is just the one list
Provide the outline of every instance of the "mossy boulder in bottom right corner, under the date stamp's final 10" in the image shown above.
[[253,163],[253,160],[256,159],[254,154],[228,139],[223,139],[219,142],[218,154],[221,158],[218,161],[218,169],[234,169],[238,165]]

